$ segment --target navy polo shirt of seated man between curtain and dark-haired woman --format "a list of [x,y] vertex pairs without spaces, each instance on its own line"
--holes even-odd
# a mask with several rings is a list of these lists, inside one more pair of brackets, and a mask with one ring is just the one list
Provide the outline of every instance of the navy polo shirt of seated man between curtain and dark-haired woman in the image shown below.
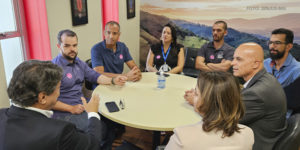
[[106,48],[105,40],[92,47],[91,59],[93,68],[104,67],[104,72],[121,74],[124,69],[124,62],[132,60],[127,46],[122,42],[117,42],[117,50],[114,53]]

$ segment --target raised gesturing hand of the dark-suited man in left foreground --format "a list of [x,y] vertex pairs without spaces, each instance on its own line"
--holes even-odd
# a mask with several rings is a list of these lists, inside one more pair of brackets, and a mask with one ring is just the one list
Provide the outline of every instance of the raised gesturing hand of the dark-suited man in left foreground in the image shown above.
[[86,112],[98,112],[100,101],[98,94],[94,94],[89,103],[86,102],[86,99],[84,97],[81,97],[81,100]]

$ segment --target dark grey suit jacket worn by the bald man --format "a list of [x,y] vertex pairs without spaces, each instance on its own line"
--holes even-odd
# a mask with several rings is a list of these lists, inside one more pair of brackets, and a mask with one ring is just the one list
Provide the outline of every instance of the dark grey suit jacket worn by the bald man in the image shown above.
[[272,75],[259,71],[242,90],[246,114],[240,123],[254,132],[253,150],[272,150],[284,133],[286,124],[286,97]]

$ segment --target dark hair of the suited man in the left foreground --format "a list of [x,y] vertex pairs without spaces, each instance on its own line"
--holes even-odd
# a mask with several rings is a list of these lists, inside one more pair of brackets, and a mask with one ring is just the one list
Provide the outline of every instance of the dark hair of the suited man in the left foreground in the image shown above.
[[7,93],[13,103],[32,106],[40,92],[52,94],[61,78],[62,69],[51,61],[24,61],[14,70]]

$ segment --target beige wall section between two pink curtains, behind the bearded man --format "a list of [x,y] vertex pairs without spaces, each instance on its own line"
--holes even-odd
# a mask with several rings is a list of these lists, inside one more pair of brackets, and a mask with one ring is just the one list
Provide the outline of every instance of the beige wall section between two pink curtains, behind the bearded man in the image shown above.
[[60,30],[70,29],[78,36],[78,57],[85,61],[91,57],[94,44],[102,40],[101,0],[88,0],[88,24],[72,26],[70,0],[46,0],[52,57],[59,53],[56,36]]

